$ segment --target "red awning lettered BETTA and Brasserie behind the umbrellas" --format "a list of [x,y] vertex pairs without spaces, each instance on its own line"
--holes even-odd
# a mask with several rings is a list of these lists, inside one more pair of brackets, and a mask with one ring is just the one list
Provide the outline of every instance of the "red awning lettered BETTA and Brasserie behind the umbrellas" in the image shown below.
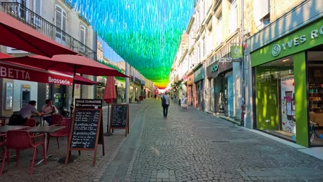
[[[0,59],[12,58],[9,54],[0,52]],[[72,85],[73,77],[70,72],[52,72],[19,63],[0,61],[0,78],[37,81],[41,83],[57,83]],[[97,82],[76,74],[75,83],[82,85],[95,85]]]

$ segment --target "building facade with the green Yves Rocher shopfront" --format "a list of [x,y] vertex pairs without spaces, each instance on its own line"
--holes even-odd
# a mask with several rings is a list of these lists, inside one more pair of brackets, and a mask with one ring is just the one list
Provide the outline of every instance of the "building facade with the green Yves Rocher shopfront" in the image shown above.
[[246,39],[245,126],[306,147],[322,145],[311,139],[309,125],[322,121],[323,3],[266,1],[266,12],[257,13],[254,5],[255,18],[265,14],[267,21]]

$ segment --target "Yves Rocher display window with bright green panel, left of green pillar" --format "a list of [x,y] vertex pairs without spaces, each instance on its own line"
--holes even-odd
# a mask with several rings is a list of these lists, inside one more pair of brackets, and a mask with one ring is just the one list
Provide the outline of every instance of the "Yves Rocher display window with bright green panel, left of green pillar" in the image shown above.
[[293,58],[255,67],[256,127],[295,140]]

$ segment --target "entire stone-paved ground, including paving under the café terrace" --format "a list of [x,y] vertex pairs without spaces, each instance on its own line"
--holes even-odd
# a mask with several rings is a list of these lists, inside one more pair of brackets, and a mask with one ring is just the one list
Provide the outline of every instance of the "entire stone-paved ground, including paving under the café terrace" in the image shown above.
[[[323,181],[320,159],[206,112],[180,110],[177,103],[164,118],[159,99],[130,104],[129,135],[115,130],[105,143],[106,155],[99,145],[95,166],[93,152],[82,151],[74,163],[48,161],[32,176],[32,151],[23,151],[19,166],[5,165],[0,181]],[[57,150],[50,141],[53,158],[66,154],[66,139],[60,145]]]

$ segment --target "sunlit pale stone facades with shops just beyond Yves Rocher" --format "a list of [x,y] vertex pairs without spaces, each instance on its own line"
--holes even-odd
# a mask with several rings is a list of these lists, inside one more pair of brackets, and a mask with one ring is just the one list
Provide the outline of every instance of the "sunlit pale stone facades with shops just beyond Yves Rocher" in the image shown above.
[[242,45],[241,7],[242,1],[235,0],[197,1],[185,32],[188,46],[179,45],[174,76],[183,81],[188,105],[237,120],[243,103],[242,59],[231,61],[231,47]]

